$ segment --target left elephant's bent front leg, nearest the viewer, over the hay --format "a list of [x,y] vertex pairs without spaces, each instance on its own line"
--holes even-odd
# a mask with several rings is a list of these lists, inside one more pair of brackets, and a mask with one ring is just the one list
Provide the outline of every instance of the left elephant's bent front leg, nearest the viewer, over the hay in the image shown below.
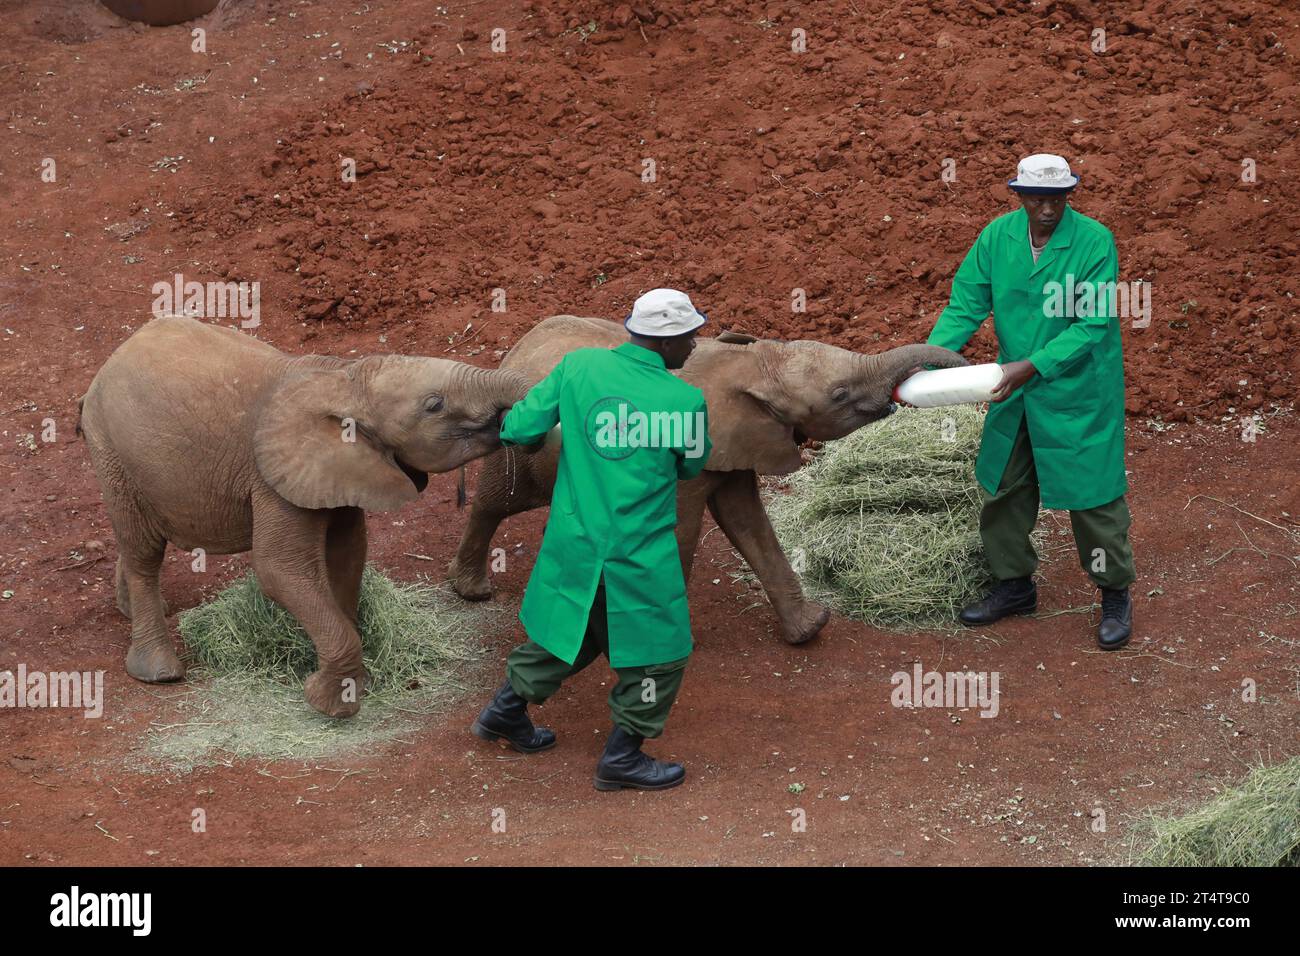
[[269,489],[254,493],[252,566],[263,592],[298,618],[316,646],[307,702],[328,717],[361,709],[368,683],[361,639],[332,587],[326,544],[329,510],[300,509]]

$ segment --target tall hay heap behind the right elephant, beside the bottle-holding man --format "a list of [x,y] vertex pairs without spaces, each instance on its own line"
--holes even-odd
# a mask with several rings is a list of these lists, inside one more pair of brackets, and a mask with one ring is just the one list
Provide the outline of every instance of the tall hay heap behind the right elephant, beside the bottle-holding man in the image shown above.
[[[810,597],[875,627],[949,627],[991,583],[978,406],[900,408],[827,442],[767,503]],[[1041,540],[1041,538],[1040,538]]]

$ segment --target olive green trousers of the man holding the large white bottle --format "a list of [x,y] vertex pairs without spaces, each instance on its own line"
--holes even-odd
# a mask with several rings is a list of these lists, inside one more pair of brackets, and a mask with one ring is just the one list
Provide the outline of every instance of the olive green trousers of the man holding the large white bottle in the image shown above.
[[[1039,520],[1039,475],[1034,467],[1030,429],[1020,432],[1011,446],[1011,458],[1002,472],[997,494],[980,488],[984,509],[979,532],[984,557],[998,580],[1028,578],[1039,566],[1030,532]],[[1098,588],[1127,588],[1134,574],[1134,551],[1128,542],[1131,518],[1124,496],[1106,505],[1070,512],[1079,563]]]

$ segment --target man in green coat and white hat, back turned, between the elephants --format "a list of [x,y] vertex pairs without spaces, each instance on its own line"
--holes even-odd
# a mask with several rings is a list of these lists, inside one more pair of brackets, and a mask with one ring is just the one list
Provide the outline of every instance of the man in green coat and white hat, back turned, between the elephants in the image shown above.
[[624,324],[630,341],[569,352],[502,421],[507,447],[540,447],[556,423],[563,445],[519,611],[528,641],[472,730],[523,753],[554,747],[528,704],[604,654],[618,680],[595,788],[667,790],[685,769],[641,744],[663,732],[690,656],[677,481],[699,475],[711,449],[703,393],[668,369],[686,363],[705,316],[684,293],[654,289]]

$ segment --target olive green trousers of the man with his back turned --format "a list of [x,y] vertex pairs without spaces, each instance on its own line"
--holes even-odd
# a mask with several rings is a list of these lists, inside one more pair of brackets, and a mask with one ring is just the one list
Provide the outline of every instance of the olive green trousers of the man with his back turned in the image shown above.
[[[597,657],[610,656],[610,632],[604,618],[604,583],[595,589],[582,646],[573,663],[566,663],[542,645],[528,640],[506,659],[506,676],[511,687],[530,704],[541,704],[554,695],[569,676]],[[663,734],[672,702],[677,700],[686,661],[651,663],[641,667],[616,667],[618,682],[610,691],[610,715],[628,734],[656,737]]]

